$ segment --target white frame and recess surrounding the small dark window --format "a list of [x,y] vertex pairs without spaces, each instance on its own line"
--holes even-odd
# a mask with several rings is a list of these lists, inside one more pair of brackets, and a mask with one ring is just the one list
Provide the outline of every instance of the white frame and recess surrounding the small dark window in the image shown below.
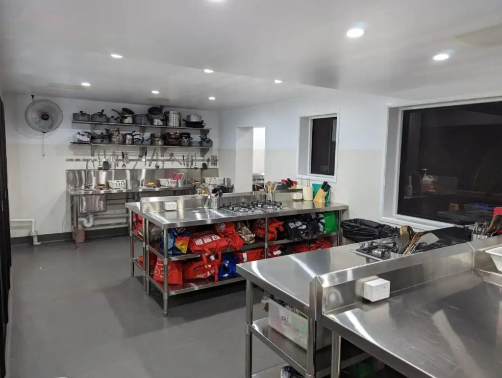
[[[333,175],[319,175],[311,172],[311,161],[312,161],[312,127],[313,127],[313,120],[314,119],[321,119],[321,118],[333,118],[336,117],[336,135],[335,135],[335,169]],[[336,175],[338,173],[338,150],[339,150],[339,141],[340,141],[340,112],[336,113],[331,113],[331,114],[322,114],[322,115],[311,115],[311,116],[305,116],[305,117],[300,117],[300,122],[301,118],[308,118],[309,120],[309,130],[308,130],[308,144],[307,144],[307,156],[308,156],[308,162],[307,162],[307,174],[302,174],[300,173],[300,150],[305,148],[305,142],[301,141],[301,137],[299,137],[298,141],[298,154],[297,154],[297,165],[296,165],[296,178],[299,179],[306,179],[306,180],[314,180],[314,181],[328,181],[328,182],[334,182],[336,183]],[[301,127],[301,126],[300,126]]]

